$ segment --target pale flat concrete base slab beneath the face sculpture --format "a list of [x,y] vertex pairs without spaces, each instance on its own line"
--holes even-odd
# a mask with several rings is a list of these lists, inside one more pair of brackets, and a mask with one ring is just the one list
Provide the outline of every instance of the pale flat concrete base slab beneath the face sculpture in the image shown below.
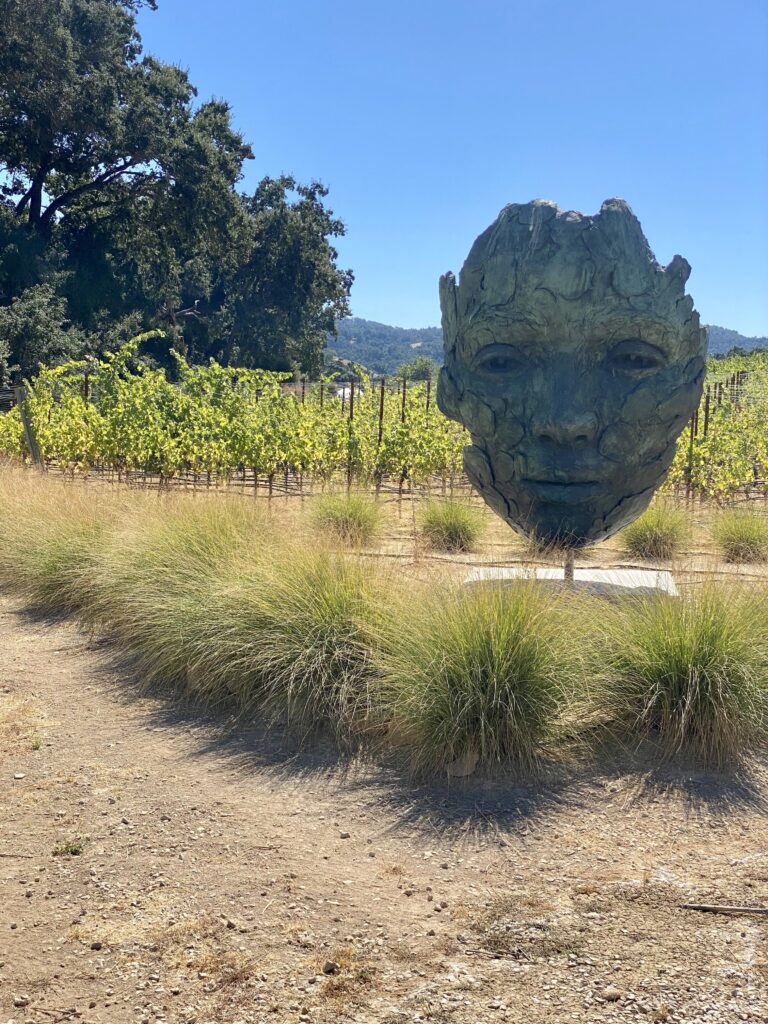
[[519,580],[540,580],[551,586],[569,587],[575,591],[586,591],[602,597],[622,597],[627,594],[651,595],[669,594],[678,596],[678,589],[672,573],[667,569],[573,569],[573,580],[566,581],[561,568],[552,566],[515,565],[510,568],[474,568],[466,577],[465,584],[501,584]]

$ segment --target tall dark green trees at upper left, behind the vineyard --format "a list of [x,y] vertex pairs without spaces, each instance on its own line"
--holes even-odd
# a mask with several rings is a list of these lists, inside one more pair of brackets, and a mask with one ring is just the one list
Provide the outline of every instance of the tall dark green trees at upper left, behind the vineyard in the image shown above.
[[[0,307],[52,289],[52,359],[59,325],[82,355],[131,317],[194,361],[314,372],[348,312],[344,226],[316,182],[238,190],[249,143],[226,102],[142,53],[141,5],[0,0]],[[31,373],[40,348],[9,359]]]

